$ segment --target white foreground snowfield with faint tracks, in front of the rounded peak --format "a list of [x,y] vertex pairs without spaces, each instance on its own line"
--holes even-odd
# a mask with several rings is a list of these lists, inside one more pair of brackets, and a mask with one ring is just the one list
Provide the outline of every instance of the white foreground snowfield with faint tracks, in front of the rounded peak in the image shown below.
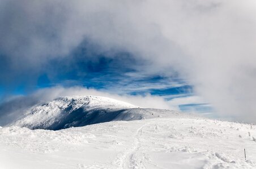
[[255,137],[256,126],[194,117],[12,126],[0,128],[0,168],[256,168]]

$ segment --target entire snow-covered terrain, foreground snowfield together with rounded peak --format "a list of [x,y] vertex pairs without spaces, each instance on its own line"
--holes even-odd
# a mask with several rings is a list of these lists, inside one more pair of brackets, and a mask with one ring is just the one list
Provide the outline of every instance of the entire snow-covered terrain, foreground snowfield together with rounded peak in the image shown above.
[[12,124],[0,127],[0,168],[256,168],[253,124],[106,97],[60,97]]

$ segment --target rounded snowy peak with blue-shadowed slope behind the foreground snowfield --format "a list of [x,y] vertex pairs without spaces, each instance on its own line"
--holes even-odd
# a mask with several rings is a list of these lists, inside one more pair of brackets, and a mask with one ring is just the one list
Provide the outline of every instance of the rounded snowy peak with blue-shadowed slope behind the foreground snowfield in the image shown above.
[[173,113],[177,114],[172,110],[142,109],[108,97],[67,96],[32,106],[11,125],[31,129],[60,130],[109,121],[166,117]]

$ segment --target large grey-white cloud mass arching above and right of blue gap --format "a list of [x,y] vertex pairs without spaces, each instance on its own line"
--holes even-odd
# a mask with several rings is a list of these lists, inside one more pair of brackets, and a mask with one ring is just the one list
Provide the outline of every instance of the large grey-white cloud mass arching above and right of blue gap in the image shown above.
[[254,0],[1,1],[0,78],[33,76],[86,40],[108,57],[145,60],[149,74],[177,71],[220,115],[255,122],[255,8]]

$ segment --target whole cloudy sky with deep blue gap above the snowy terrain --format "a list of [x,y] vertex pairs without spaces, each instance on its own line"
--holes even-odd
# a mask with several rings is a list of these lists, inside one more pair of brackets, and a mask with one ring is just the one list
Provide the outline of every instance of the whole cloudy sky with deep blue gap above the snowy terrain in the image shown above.
[[97,91],[256,122],[255,13],[254,0],[3,0],[1,103]]

